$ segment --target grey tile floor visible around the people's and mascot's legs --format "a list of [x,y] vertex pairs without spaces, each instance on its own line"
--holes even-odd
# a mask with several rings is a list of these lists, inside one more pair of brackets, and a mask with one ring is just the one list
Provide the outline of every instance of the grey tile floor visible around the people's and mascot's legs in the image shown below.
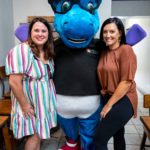
[[[125,126],[125,138],[126,138],[126,150],[139,150],[143,127],[139,120],[139,116],[148,115],[148,110],[143,108],[143,96],[139,95],[139,106],[138,106],[138,117],[136,119],[131,119],[128,124]],[[50,140],[45,140],[41,144],[41,150],[57,150],[61,145],[65,143],[65,138],[62,130],[55,132]],[[147,140],[147,144],[150,144],[150,141]],[[113,150],[113,140],[110,139],[108,144],[109,150]],[[18,150],[22,150],[22,146]],[[150,150],[150,148],[146,148]]]

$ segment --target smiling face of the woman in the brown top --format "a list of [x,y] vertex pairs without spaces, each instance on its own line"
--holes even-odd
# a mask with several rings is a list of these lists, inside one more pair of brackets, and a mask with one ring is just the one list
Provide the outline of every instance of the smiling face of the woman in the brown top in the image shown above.
[[121,32],[115,23],[107,24],[103,28],[103,40],[110,49],[116,49],[120,45]]

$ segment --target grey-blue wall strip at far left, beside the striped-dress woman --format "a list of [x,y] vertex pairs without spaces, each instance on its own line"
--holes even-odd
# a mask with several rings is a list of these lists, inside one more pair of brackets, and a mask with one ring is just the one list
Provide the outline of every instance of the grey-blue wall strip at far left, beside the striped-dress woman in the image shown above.
[[12,6],[12,1],[0,0],[0,66],[5,64],[7,51],[14,45]]

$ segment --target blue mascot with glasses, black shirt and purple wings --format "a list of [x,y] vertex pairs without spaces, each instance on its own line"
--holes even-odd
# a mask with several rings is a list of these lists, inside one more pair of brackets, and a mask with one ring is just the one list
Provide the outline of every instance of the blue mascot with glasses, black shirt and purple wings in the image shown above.
[[[101,0],[48,0],[55,17],[54,27],[60,38],[55,41],[54,82],[58,120],[66,144],[61,150],[93,150],[92,136],[100,121],[100,85],[97,78],[99,51],[94,36],[99,29],[97,9]],[[28,37],[28,25],[17,28],[21,41]],[[135,45],[146,36],[132,26],[126,38]]]

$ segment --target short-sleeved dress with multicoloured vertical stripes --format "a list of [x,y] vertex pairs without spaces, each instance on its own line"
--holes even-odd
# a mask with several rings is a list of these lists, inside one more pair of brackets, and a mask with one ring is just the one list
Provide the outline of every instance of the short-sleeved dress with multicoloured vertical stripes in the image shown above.
[[11,129],[15,138],[35,133],[41,139],[50,138],[50,129],[57,124],[53,72],[53,61],[44,64],[35,57],[26,43],[19,44],[8,52],[6,74],[23,74],[24,94],[35,111],[34,117],[26,119],[17,99],[11,93]]

